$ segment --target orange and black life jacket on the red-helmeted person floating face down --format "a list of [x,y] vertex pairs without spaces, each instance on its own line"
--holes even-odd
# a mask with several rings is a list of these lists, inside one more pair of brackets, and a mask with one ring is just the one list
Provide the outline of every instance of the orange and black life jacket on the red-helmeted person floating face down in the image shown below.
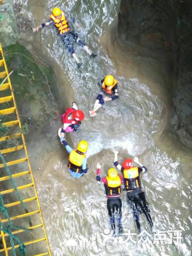
[[141,188],[138,167],[124,169],[123,176],[124,176],[125,189],[127,191]]

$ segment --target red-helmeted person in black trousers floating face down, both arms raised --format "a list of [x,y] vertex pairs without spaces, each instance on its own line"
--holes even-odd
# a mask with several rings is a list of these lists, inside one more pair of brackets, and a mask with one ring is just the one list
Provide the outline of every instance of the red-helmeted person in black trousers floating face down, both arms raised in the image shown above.
[[134,167],[132,160],[129,158],[125,159],[123,166],[121,166],[117,161],[118,151],[114,151],[114,154],[114,165],[123,173],[125,191],[127,191],[127,202],[133,211],[139,233],[141,232],[139,215],[142,212],[152,228],[152,233],[155,233],[145,193],[140,186],[140,173],[147,172],[147,168],[139,162],[138,157],[134,157],[133,160],[140,167]]

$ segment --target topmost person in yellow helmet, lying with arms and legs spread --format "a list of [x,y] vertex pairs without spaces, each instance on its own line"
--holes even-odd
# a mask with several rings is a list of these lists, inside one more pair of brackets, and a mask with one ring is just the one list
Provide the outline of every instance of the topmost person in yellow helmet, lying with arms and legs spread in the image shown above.
[[[86,51],[90,58],[97,56],[97,54],[92,53],[87,45],[85,45],[84,42],[79,39],[78,34],[69,28],[67,19],[67,15],[65,15],[64,12],[61,11],[59,8],[55,7],[53,9],[53,13],[50,15],[50,20],[48,22],[42,23],[37,27],[34,27],[33,32],[35,33],[43,27],[54,25],[58,29],[60,38],[63,41],[64,45],[68,48],[69,53],[71,53],[71,55],[74,57],[76,63],[78,64],[78,68],[80,68],[81,63],[72,46],[74,42],[77,42],[83,48],[83,50]],[[74,19],[71,20],[73,23],[75,23]]]

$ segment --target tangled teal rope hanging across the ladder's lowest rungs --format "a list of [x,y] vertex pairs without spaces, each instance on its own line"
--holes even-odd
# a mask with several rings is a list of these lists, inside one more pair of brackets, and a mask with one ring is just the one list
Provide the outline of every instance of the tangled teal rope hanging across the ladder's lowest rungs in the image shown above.
[[[11,242],[13,256],[16,256],[14,240],[16,240],[18,242],[18,244],[19,244],[19,251],[20,251],[21,255],[25,256],[26,255],[26,249],[25,249],[26,246],[22,244],[22,242],[19,240],[18,237],[14,236],[11,233],[12,229],[23,229],[23,228],[22,227],[16,227],[16,226],[12,225],[12,222],[11,222],[11,219],[10,219],[10,215],[8,214],[7,208],[4,205],[3,196],[1,195],[1,193],[0,193],[0,202],[1,202],[0,211],[4,212],[6,217],[7,217],[7,219],[8,219],[7,229],[5,228],[3,223],[0,221],[0,230],[3,231],[4,233],[7,233],[10,236],[10,242]],[[28,230],[28,231],[32,231],[32,230]]]

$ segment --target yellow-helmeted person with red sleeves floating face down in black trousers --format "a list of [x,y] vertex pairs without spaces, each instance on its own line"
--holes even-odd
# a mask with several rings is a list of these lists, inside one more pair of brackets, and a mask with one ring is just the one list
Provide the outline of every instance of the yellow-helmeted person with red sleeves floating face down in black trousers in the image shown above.
[[101,173],[101,165],[97,163],[97,181],[101,181],[105,186],[105,193],[107,196],[107,208],[108,214],[110,217],[110,224],[113,230],[113,234],[115,234],[115,208],[118,214],[117,216],[117,226],[118,233],[121,235],[123,233],[122,223],[121,223],[121,206],[122,202],[120,199],[121,193],[121,184],[123,184],[123,178],[117,174],[116,169],[110,168],[108,170],[108,175],[105,178],[100,177]]

